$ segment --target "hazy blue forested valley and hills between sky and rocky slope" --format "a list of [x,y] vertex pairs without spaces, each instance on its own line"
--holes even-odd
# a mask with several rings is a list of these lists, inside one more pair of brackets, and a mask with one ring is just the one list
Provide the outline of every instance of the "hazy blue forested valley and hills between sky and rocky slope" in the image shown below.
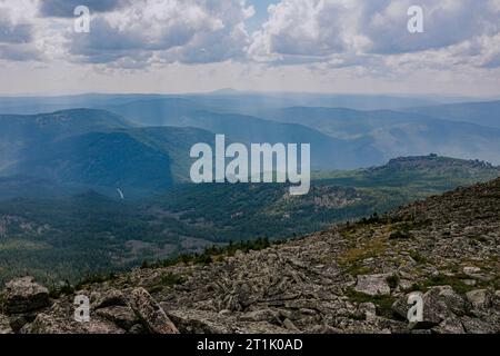
[[[350,107],[331,107],[341,102]],[[238,92],[0,98],[0,280],[29,274],[57,286],[267,246],[494,179],[498,117],[483,119],[494,106]],[[44,108],[57,111],[36,113]],[[189,152],[216,147],[217,135],[249,151],[310,144],[309,194],[193,185]]]

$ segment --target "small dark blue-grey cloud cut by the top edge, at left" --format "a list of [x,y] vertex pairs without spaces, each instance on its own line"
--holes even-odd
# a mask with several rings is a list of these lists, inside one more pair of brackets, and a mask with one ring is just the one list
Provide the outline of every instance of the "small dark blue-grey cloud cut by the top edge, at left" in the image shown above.
[[92,12],[108,12],[128,3],[129,0],[40,0],[39,9],[42,17],[72,18],[78,6],[87,6]]

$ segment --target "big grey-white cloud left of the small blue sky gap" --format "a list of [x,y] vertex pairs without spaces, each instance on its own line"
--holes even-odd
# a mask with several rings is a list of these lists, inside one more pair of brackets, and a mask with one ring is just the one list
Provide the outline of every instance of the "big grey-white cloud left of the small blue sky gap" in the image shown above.
[[70,53],[91,63],[219,62],[244,57],[252,16],[244,1],[147,0],[92,18],[68,33]]

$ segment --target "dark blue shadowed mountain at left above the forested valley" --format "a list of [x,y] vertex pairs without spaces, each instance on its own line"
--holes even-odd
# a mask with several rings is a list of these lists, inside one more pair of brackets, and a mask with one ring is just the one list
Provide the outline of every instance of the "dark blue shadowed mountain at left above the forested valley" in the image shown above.
[[48,179],[61,188],[88,186],[108,195],[119,188],[130,196],[152,194],[174,179],[186,180],[189,148],[210,137],[190,128],[140,129],[96,109],[3,115],[0,175]]

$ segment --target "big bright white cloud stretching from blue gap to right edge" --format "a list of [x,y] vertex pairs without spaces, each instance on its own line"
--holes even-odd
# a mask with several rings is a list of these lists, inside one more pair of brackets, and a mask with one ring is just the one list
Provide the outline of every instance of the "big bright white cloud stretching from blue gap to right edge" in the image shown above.
[[339,55],[404,55],[500,31],[498,0],[417,3],[423,9],[423,33],[407,30],[407,11],[416,4],[410,0],[281,0],[269,7],[269,19],[253,33],[249,53],[271,61],[293,56],[323,61]]

